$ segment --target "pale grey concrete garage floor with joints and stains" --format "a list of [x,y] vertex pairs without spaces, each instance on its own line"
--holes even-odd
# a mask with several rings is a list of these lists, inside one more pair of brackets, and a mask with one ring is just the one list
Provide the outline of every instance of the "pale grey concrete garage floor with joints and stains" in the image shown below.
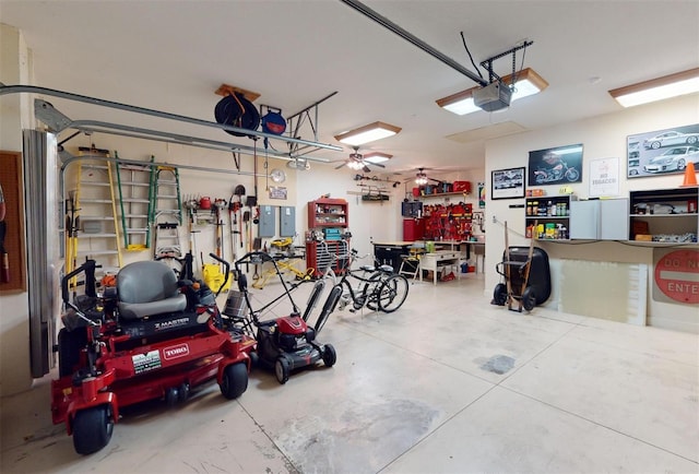
[[696,334],[508,311],[467,274],[391,315],[337,312],[319,340],[333,368],[131,407],[90,457],[51,425],[47,377],[1,400],[0,471],[699,472]]

